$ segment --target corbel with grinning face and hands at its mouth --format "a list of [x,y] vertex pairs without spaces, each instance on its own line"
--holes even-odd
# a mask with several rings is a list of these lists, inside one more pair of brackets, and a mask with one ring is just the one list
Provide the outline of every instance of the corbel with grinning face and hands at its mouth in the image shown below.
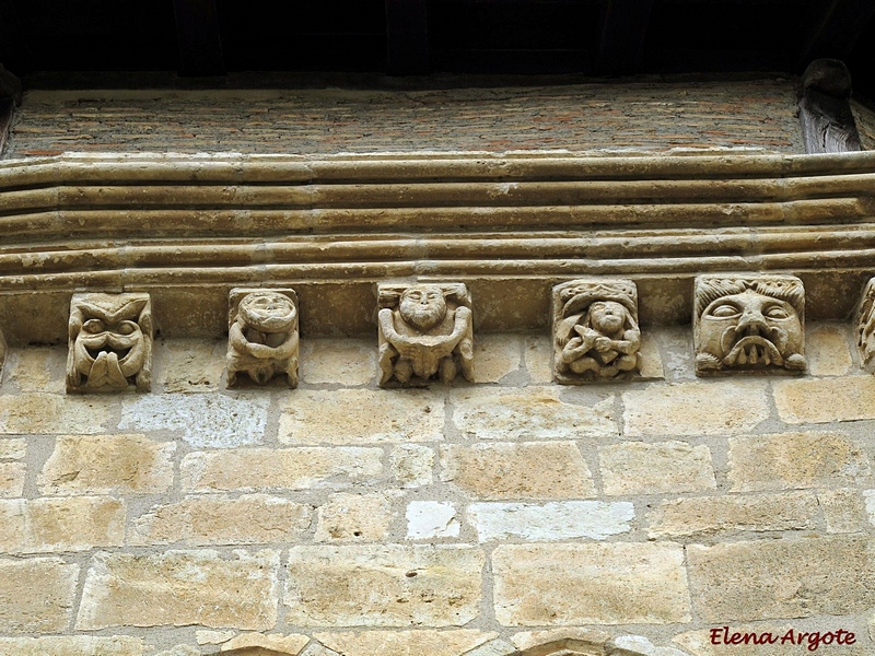
[[149,294],[73,294],[67,391],[149,391],[151,375]]

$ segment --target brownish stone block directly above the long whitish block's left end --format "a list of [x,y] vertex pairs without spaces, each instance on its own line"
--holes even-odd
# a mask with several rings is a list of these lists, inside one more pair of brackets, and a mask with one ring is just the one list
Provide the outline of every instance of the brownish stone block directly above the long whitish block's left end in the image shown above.
[[588,499],[590,468],[573,442],[452,444],[441,448],[441,480],[476,499]]

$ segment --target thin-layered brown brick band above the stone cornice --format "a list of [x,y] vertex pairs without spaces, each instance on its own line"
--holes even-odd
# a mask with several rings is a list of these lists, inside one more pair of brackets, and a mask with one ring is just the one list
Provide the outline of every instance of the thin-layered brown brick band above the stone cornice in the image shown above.
[[431,91],[32,91],[4,157],[673,147],[802,153],[792,80]]

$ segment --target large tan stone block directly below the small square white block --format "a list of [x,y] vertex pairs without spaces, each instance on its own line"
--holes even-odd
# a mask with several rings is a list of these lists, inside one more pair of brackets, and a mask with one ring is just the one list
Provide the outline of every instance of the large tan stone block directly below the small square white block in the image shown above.
[[287,622],[460,626],[480,612],[483,563],[463,546],[292,547]]

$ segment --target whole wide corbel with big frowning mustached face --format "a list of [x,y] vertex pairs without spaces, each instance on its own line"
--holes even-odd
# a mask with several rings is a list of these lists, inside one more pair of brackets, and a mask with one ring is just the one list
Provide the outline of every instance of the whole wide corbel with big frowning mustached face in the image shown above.
[[697,375],[804,371],[804,294],[792,276],[697,278]]

